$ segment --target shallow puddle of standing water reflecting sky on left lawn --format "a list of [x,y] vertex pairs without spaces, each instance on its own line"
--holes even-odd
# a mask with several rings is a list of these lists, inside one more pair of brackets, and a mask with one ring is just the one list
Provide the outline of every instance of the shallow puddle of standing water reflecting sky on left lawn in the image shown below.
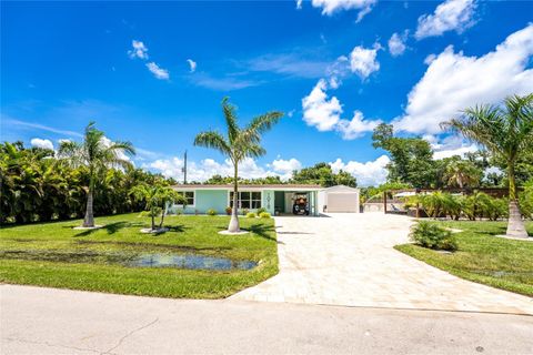
[[179,267],[191,270],[250,270],[258,266],[258,263],[200,254],[144,254],[128,262],[128,266]]

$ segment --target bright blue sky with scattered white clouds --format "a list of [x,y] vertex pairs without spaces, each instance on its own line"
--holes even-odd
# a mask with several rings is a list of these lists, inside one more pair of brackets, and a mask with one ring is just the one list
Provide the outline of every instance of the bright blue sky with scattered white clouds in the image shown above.
[[284,116],[243,178],[318,162],[360,185],[385,181],[372,130],[426,139],[434,158],[477,148],[441,131],[460,110],[533,92],[531,1],[1,2],[1,141],[57,149],[97,126],[135,166],[182,180],[230,175],[193,145],[239,122]]

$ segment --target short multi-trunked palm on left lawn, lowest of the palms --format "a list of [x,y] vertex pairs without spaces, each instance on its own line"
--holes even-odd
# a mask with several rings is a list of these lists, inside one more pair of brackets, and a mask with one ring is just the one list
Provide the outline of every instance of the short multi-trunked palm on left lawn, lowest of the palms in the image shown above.
[[164,185],[161,181],[150,185],[145,183],[139,184],[133,186],[130,193],[137,199],[145,202],[145,209],[147,211],[150,211],[150,216],[152,217],[152,231],[158,231],[158,229],[155,229],[155,215],[159,214],[159,211],[161,211],[161,222],[159,223],[159,229],[162,229],[168,204],[184,203],[185,200],[175,190]]

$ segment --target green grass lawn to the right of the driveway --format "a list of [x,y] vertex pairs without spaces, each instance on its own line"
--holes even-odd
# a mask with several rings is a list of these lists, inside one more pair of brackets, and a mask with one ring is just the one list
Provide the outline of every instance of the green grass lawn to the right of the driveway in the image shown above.
[[[442,226],[459,229],[459,250],[442,254],[414,244],[395,248],[430,265],[470,281],[533,296],[533,242],[495,237],[505,234],[505,222],[445,221]],[[526,223],[533,235],[533,222]]]

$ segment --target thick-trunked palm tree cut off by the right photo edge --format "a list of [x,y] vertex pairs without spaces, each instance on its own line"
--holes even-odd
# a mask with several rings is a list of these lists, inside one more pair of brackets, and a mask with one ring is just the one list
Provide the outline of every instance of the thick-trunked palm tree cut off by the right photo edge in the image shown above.
[[469,108],[459,119],[444,122],[443,128],[463,134],[505,160],[509,178],[506,235],[527,237],[516,199],[514,170],[520,154],[533,149],[533,93],[507,97],[503,106]]

